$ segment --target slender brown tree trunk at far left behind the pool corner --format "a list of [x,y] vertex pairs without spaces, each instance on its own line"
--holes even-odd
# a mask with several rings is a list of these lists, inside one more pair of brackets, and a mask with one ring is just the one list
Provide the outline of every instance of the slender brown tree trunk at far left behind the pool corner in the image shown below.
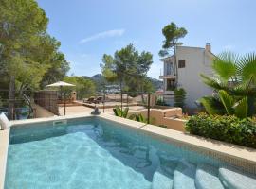
[[8,109],[9,120],[14,119],[14,103],[15,103],[15,77],[10,76],[10,79],[9,79],[9,109]]

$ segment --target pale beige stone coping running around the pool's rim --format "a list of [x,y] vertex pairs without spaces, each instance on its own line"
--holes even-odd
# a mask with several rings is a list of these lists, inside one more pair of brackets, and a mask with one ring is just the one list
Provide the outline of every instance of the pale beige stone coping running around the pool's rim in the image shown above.
[[[74,119],[74,118],[85,118],[85,117],[101,117],[102,119],[109,120],[118,123],[123,126],[128,126],[130,128],[139,129],[143,132],[149,133],[156,137],[161,137],[167,141],[174,141],[175,143],[187,146],[194,146],[198,149],[205,151],[210,151],[217,153],[221,156],[229,157],[231,159],[237,159],[244,163],[252,163],[256,170],[256,149],[248,148],[244,146],[236,146],[228,144],[221,141],[216,141],[212,139],[205,139],[203,137],[189,135],[187,133],[177,131],[174,129],[166,129],[157,127],[154,125],[149,125],[145,123],[140,123],[137,121],[117,117],[115,115],[110,115],[106,113],[101,113],[101,115],[91,115],[89,113],[82,113],[77,115],[66,115],[66,116],[54,116],[47,118],[37,118],[28,120],[18,120],[11,121],[14,126],[34,124],[34,123],[44,123],[47,121],[56,121],[64,119]],[[8,147],[9,147],[9,129],[0,130],[0,189],[4,189],[4,181],[6,175],[7,158],[8,158]],[[2,153],[3,152],[3,153]],[[239,166],[239,165],[238,165]]]

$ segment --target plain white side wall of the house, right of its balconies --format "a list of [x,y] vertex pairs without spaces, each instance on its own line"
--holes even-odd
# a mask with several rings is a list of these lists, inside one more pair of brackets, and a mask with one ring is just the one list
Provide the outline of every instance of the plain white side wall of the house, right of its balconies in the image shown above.
[[178,68],[178,85],[187,92],[186,105],[195,108],[195,101],[204,95],[212,94],[212,90],[206,86],[200,74],[212,75],[212,54],[204,48],[178,46],[176,51],[178,60],[185,60],[185,68]]

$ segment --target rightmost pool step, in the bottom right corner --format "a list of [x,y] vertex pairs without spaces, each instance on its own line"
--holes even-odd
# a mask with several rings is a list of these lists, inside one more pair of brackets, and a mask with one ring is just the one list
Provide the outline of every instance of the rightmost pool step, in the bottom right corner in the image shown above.
[[256,176],[238,170],[234,167],[222,167],[219,169],[219,179],[225,187],[232,189],[255,189]]

